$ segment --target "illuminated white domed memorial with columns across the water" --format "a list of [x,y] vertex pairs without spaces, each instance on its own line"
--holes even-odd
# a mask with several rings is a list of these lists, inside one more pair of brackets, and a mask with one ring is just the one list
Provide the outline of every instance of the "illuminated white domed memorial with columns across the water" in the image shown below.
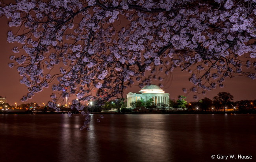
[[141,100],[142,98],[144,101],[152,98],[155,105],[163,103],[169,106],[169,93],[165,93],[159,86],[151,84],[150,86],[143,87],[139,92],[129,92],[127,94],[127,108],[131,107],[131,102]]

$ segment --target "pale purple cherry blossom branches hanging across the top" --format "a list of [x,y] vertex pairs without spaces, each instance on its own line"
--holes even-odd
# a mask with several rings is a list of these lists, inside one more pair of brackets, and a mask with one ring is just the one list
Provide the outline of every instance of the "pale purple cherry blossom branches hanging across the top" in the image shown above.
[[135,80],[143,87],[174,70],[191,73],[184,93],[224,87],[225,77],[255,79],[255,3],[19,0],[1,3],[0,15],[20,29],[8,31],[7,42],[13,44],[8,65],[17,67],[28,87],[22,100],[51,86],[63,98],[78,97],[72,108],[81,110],[82,101],[123,99]]

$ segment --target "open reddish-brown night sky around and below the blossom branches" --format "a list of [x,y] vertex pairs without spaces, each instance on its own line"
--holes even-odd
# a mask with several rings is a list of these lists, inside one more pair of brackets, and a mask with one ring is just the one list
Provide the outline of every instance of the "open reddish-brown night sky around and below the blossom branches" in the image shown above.
[[[17,27],[8,27],[7,25],[7,18],[2,17],[0,18],[0,49],[1,49],[1,59],[0,59],[0,96],[6,97],[7,103],[10,105],[15,105],[15,102],[17,104],[22,104],[20,101],[20,98],[22,98],[23,95],[27,93],[27,87],[25,85],[20,84],[20,75],[18,71],[16,70],[17,67],[13,67],[11,69],[8,66],[8,63],[11,62],[9,60],[9,56],[13,55],[12,48],[14,46],[17,46],[15,44],[9,44],[7,42],[7,31],[15,31],[17,30]],[[15,34],[15,32],[13,32]],[[19,45],[20,46],[20,45]],[[21,53],[19,53],[21,55]],[[193,86],[188,80],[188,78],[191,76],[191,74],[187,73],[186,71],[180,72],[179,69],[176,69],[173,73],[173,76],[169,76],[168,78],[165,78],[163,82],[156,81],[154,79],[152,84],[163,84],[163,90],[165,93],[170,94],[170,98],[173,98],[175,100],[178,99],[178,95],[185,95],[187,97],[187,101],[195,101],[193,99],[193,95],[195,93],[187,93],[185,94],[182,91],[182,88],[189,89]],[[166,76],[166,75],[165,75]],[[138,83],[135,81],[135,84]],[[231,95],[234,96],[234,101],[237,100],[254,100],[256,99],[256,80],[251,80],[247,78],[246,76],[240,76],[236,78],[226,78],[226,81],[224,82],[224,88],[216,88],[212,91],[209,91],[206,93],[206,95],[198,95],[199,99],[208,97],[210,99],[213,98],[213,96],[217,95],[217,93],[226,91],[229,92]],[[141,88],[139,86],[133,86],[132,88],[128,88],[125,91],[125,96],[130,91],[136,92],[139,91]],[[51,100],[50,98],[51,94],[51,87],[48,89],[44,89],[41,93],[35,94],[32,99],[28,100],[27,102],[37,102],[40,103],[47,103]],[[68,102],[71,102],[71,98]],[[26,102],[25,102],[26,103]],[[64,103],[64,102],[63,102]]]

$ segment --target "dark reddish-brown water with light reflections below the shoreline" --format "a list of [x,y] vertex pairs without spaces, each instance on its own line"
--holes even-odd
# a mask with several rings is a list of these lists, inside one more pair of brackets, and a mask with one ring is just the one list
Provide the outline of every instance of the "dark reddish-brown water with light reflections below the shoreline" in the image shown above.
[[80,131],[80,115],[0,115],[0,162],[256,162],[256,115],[97,118]]

